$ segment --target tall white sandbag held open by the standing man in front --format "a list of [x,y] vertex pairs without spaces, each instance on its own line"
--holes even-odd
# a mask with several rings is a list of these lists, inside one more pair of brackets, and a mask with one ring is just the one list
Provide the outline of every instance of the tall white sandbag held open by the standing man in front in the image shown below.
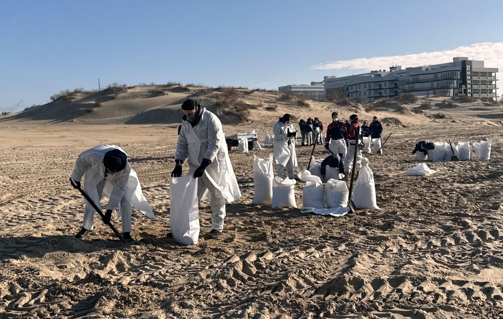
[[196,245],[199,240],[197,181],[188,175],[173,177],[170,182],[170,228],[182,245]]

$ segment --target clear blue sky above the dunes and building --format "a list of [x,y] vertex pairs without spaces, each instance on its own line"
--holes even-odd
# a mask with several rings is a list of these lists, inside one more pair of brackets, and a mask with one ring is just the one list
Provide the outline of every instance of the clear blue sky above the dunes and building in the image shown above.
[[501,1],[0,0],[0,110],[95,89],[98,78],[277,89],[356,74],[326,63],[501,43],[502,9]]

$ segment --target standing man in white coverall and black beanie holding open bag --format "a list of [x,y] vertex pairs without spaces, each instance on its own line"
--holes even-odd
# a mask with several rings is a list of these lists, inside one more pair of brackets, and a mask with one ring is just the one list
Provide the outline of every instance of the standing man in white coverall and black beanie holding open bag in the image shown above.
[[182,164],[188,156],[189,174],[198,179],[199,200],[210,199],[212,214],[209,236],[217,238],[223,230],[225,201],[235,201],[241,197],[241,192],[218,117],[191,99],[184,101],[182,110],[185,115],[171,176],[182,176]]

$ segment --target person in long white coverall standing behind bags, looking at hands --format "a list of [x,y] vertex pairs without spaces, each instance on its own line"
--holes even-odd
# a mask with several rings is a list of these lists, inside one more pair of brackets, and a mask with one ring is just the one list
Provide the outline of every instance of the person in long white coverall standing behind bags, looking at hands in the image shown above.
[[285,114],[274,125],[274,159],[277,163],[276,175],[284,178],[286,171],[288,178],[294,179],[293,170],[297,168],[297,154],[295,153],[297,132],[290,123],[291,118],[290,114]]

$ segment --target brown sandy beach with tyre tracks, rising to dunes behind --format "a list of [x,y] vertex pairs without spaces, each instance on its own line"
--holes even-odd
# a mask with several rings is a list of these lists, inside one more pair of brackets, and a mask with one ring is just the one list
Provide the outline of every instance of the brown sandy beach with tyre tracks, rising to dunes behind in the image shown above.
[[[333,109],[346,117],[355,107],[313,101],[299,106],[275,93],[249,92],[242,99],[263,106],[251,109],[247,125],[235,125],[241,119],[229,115],[234,125],[224,127],[227,134],[253,127],[262,139],[287,110],[326,120]],[[209,103],[214,92],[197,89],[157,97],[148,97],[148,88],[123,94],[105,101],[108,95],[82,92],[72,102],[0,118],[0,317],[501,317],[499,107],[483,102],[439,107],[444,98],[430,99],[432,106],[423,113],[393,105],[366,112],[357,105],[361,117],[390,118],[384,134],[393,135],[382,155],[366,155],[382,210],[342,218],[251,204],[253,155],[267,156],[272,148],[233,150],[243,197],[227,205],[218,240],[201,237],[197,246],[185,247],[165,237],[177,106],[193,94],[216,112],[220,106]],[[82,114],[101,98],[99,110]],[[403,106],[413,110],[422,102]],[[276,108],[266,110],[272,105]],[[429,117],[436,113],[445,117]],[[121,124],[90,125],[107,121]],[[126,125],[132,123],[141,125]],[[438,173],[407,177],[404,172],[416,165],[410,152],[425,138],[492,138],[491,159],[429,163]],[[116,143],[128,152],[156,214],[149,220],[133,212],[132,235],[139,241],[130,246],[98,220],[86,240],[71,236],[80,228],[83,201],[67,179],[78,153],[99,143]],[[297,150],[305,168],[311,148]],[[325,156],[321,146],[315,156]],[[300,207],[302,184],[295,191]],[[210,214],[209,203],[201,203],[202,234],[210,230]]]

